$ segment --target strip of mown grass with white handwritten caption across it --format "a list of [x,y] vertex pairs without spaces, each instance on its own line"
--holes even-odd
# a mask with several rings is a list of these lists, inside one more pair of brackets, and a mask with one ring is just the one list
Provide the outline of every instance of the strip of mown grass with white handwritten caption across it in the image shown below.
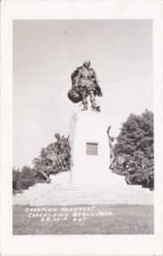
[[13,234],[154,234],[153,206],[48,206],[44,207],[44,210],[42,210],[42,208],[43,207],[14,206]]

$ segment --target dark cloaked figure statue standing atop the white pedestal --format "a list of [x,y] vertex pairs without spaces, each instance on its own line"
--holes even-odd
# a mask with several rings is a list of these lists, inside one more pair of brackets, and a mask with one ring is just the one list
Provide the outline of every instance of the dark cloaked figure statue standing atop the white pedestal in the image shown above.
[[68,97],[71,102],[82,102],[82,110],[87,110],[87,96],[89,96],[93,110],[100,111],[100,107],[95,102],[95,96],[103,96],[103,94],[98,85],[96,73],[90,65],[90,61],[84,61],[82,67],[77,67],[71,74],[72,89],[68,92]]

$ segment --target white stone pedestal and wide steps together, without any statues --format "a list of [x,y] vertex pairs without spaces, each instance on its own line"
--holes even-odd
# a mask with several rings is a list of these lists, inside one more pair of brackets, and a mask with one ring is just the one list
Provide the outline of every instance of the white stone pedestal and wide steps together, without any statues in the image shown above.
[[152,205],[153,192],[127,185],[124,176],[110,171],[110,148],[101,113],[75,113],[70,122],[71,170],[51,175],[14,196],[14,205]]

